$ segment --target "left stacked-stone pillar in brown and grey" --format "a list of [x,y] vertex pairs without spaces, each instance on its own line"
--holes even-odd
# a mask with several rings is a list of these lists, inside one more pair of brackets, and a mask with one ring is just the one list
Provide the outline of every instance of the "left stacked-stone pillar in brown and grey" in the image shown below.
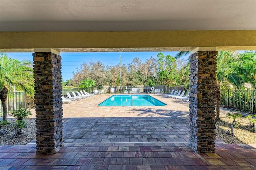
[[58,152],[63,146],[61,57],[33,53],[37,154]]

